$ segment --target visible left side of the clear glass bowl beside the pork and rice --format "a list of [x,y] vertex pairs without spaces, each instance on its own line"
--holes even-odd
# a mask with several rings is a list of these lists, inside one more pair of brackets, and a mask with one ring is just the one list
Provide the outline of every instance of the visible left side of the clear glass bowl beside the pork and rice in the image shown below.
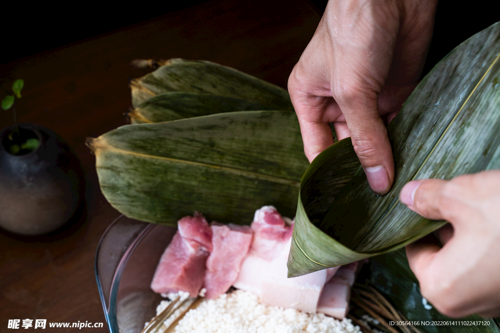
[[102,235],[95,278],[110,333],[140,333],[162,300],[149,288],[176,228],[119,216]]

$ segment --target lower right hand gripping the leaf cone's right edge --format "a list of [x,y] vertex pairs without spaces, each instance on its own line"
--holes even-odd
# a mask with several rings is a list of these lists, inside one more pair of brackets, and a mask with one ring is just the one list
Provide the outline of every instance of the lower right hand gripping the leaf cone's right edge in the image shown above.
[[406,246],[422,296],[448,317],[500,315],[500,170],[411,181],[399,199],[452,227],[439,230],[442,248],[428,238]]

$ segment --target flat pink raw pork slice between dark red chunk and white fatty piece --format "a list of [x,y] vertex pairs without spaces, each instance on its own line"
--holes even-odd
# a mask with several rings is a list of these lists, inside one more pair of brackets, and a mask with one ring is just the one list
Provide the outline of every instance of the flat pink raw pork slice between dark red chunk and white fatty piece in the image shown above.
[[216,299],[225,293],[236,280],[241,262],[246,257],[252,241],[248,226],[211,223],[213,249],[206,260],[203,287],[207,299]]

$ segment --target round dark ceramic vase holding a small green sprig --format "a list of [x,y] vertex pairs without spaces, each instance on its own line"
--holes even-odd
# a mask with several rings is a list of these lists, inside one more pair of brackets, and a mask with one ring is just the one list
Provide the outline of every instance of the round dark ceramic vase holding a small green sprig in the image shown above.
[[[37,138],[38,146],[12,154],[8,148],[12,131]],[[81,202],[84,177],[66,142],[30,123],[7,126],[0,137],[0,227],[20,235],[40,235],[67,222]]]

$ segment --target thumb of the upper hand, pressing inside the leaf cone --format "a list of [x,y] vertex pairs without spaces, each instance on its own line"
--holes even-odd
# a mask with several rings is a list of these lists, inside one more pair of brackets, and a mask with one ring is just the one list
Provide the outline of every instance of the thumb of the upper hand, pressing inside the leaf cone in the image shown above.
[[377,98],[344,110],[352,146],[370,188],[376,194],[387,193],[394,180],[394,160],[387,130],[378,115]]

